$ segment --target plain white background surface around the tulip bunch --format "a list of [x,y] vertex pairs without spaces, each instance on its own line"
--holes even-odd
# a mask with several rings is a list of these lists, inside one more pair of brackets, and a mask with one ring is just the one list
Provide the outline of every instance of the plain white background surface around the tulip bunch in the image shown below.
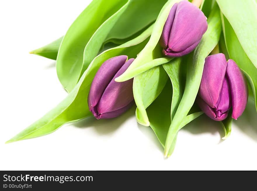
[[88,118],[47,136],[4,144],[67,96],[55,61],[30,55],[64,35],[90,1],[1,1],[0,170],[257,170],[257,115],[247,108],[222,141],[218,122],[202,116],[178,135],[173,155],[135,107],[119,118]]

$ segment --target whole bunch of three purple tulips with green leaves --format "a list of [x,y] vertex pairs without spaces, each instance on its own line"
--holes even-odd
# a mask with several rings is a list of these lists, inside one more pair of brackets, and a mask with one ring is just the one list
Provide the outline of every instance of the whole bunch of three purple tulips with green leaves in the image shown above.
[[165,157],[203,114],[226,139],[248,99],[257,108],[256,31],[256,0],[93,0],[65,36],[30,52],[56,59],[67,97],[7,142],[115,118],[134,104]]

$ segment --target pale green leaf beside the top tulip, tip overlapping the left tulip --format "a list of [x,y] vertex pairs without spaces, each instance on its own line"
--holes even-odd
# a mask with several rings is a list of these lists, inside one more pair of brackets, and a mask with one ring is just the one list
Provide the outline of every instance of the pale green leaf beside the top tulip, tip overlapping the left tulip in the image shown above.
[[[115,79],[115,81],[117,82],[122,82],[122,81],[126,81],[128,79],[133,78],[134,76],[136,76],[139,73],[144,72],[143,69],[148,69],[151,67],[155,67],[156,66],[156,62],[151,62],[153,59],[156,59],[158,57],[151,57],[149,55],[152,55],[152,52],[158,48],[159,44],[159,39],[162,35],[162,29],[163,26],[166,22],[166,19],[169,15],[169,12],[171,10],[171,7],[176,3],[179,2],[180,0],[169,0],[167,1],[167,3],[163,6],[162,10],[160,11],[156,22],[154,23],[154,28],[153,28],[153,32],[152,35],[150,37],[149,42],[147,43],[147,45],[145,46],[145,48],[140,52],[140,54],[138,55],[138,57],[134,60],[134,62],[129,66],[129,68],[118,78]],[[158,46],[157,46],[158,44]],[[159,46],[159,50],[162,50],[162,48]],[[164,55],[160,55],[160,57],[164,57]],[[169,62],[169,60],[166,60],[167,62]],[[144,67],[142,70],[137,70],[137,73],[130,73],[130,71],[135,70],[136,68],[145,65],[145,64],[149,64],[149,67]],[[159,64],[164,64],[163,62],[159,62]]]

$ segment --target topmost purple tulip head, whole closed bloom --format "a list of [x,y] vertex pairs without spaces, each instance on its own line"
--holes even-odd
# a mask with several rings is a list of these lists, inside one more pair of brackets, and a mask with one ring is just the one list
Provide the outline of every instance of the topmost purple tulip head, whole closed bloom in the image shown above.
[[188,1],[175,3],[164,24],[160,44],[167,57],[192,52],[208,27],[204,13]]

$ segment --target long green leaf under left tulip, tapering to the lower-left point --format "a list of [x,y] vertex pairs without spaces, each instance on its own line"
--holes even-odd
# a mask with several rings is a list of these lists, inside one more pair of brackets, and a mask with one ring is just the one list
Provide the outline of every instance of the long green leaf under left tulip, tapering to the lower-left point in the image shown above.
[[152,27],[147,29],[137,38],[118,47],[106,50],[95,57],[79,80],[79,83],[60,104],[58,104],[41,119],[34,122],[25,130],[7,141],[7,143],[43,136],[54,132],[67,122],[72,122],[91,116],[92,114],[87,105],[87,96],[91,82],[101,64],[105,60],[118,55],[128,55],[129,58],[136,57],[138,52],[142,50],[149,40],[148,37],[150,36],[151,31]]

